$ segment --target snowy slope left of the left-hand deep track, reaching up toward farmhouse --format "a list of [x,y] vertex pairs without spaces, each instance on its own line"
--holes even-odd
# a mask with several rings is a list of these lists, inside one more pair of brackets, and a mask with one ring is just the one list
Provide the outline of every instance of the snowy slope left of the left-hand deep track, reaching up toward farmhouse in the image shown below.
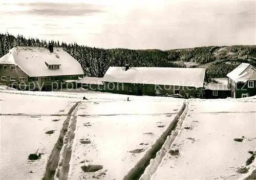
[[[0,179],[41,179],[74,102],[0,93]],[[38,160],[29,155],[42,153]]]

